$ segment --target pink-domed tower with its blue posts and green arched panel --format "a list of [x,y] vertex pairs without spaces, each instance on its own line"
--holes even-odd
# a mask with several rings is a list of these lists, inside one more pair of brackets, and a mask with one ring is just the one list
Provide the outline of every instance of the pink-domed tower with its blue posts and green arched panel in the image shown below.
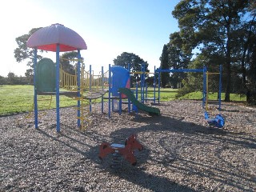
[[[78,97],[80,97],[80,50],[87,50],[86,42],[74,30],[70,30],[61,24],[53,24],[37,30],[30,36],[26,42],[26,46],[34,49],[34,126],[38,128],[38,85],[42,88],[41,91],[53,91],[56,94],[56,130],[60,132],[60,118],[59,118],[59,52],[78,51]],[[37,63],[37,51],[47,50],[56,52],[56,65],[42,65]],[[38,65],[40,64],[40,66]],[[53,66],[53,67],[51,67]],[[48,70],[48,71],[46,71]],[[37,74],[37,71],[40,73]],[[55,75],[54,75],[55,71]],[[47,76],[47,75],[48,76]],[[53,74],[50,75],[49,74]],[[37,77],[38,75],[38,77]],[[47,79],[45,79],[47,78]],[[41,80],[42,82],[38,82]],[[55,86],[55,87],[54,87]],[[45,89],[46,88],[46,89]],[[50,89],[49,89],[50,88]],[[80,126],[80,101],[78,101],[78,127]]]

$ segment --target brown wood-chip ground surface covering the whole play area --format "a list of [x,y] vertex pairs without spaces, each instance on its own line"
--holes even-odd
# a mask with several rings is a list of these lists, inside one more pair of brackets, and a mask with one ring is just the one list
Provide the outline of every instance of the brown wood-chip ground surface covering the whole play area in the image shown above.
[[[150,102],[148,103],[150,105]],[[206,124],[201,101],[160,102],[161,116],[139,111],[113,113],[95,104],[92,123],[78,129],[76,110],[55,110],[17,125],[24,114],[1,117],[1,191],[254,191],[256,122],[254,108],[222,103],[223,129]],[[210,107],[214,107],[211,106]],[[98,159],[102,142],[124,143],[137,134],[143,150],[137,165]]]

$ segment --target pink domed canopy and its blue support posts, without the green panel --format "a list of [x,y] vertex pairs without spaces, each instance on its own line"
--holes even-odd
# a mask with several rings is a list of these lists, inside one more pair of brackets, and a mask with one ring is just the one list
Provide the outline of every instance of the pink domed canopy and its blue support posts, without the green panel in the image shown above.
[[[55,65],[55,87],[54,92],[51,94],[56,95],[56,130],[60,132],[60,118],[59,118],[59,76],[60,76],[60,62],[59,53],[64,51],[78,51],[78,67],[77,67],[77,97],[80,97],[80,66],[81,66],[81,54],[80,50],[86,50],[86,42],[83,38],[77,34],[74,30],[61,25],[53,24],[37,30],[30,36],[26,45],[34,49],[34,126],[38,129],[38,90],[37,90],[37,54],[38,50],[47,50],[56,52],[56,65]],[[80,101],[78,100],[78,117],[80,117]],[[78,119],[78,127],[80,127],[80,119]]]

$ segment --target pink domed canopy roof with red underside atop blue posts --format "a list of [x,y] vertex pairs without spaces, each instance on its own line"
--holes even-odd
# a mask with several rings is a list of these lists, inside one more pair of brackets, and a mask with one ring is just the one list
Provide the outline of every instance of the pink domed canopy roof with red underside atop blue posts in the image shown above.
[[26,42],[30,48],[54,52],[57,51],[57,44],[60,52],[87,50],[86,42],[78,33],[58,23],[37,30]]

